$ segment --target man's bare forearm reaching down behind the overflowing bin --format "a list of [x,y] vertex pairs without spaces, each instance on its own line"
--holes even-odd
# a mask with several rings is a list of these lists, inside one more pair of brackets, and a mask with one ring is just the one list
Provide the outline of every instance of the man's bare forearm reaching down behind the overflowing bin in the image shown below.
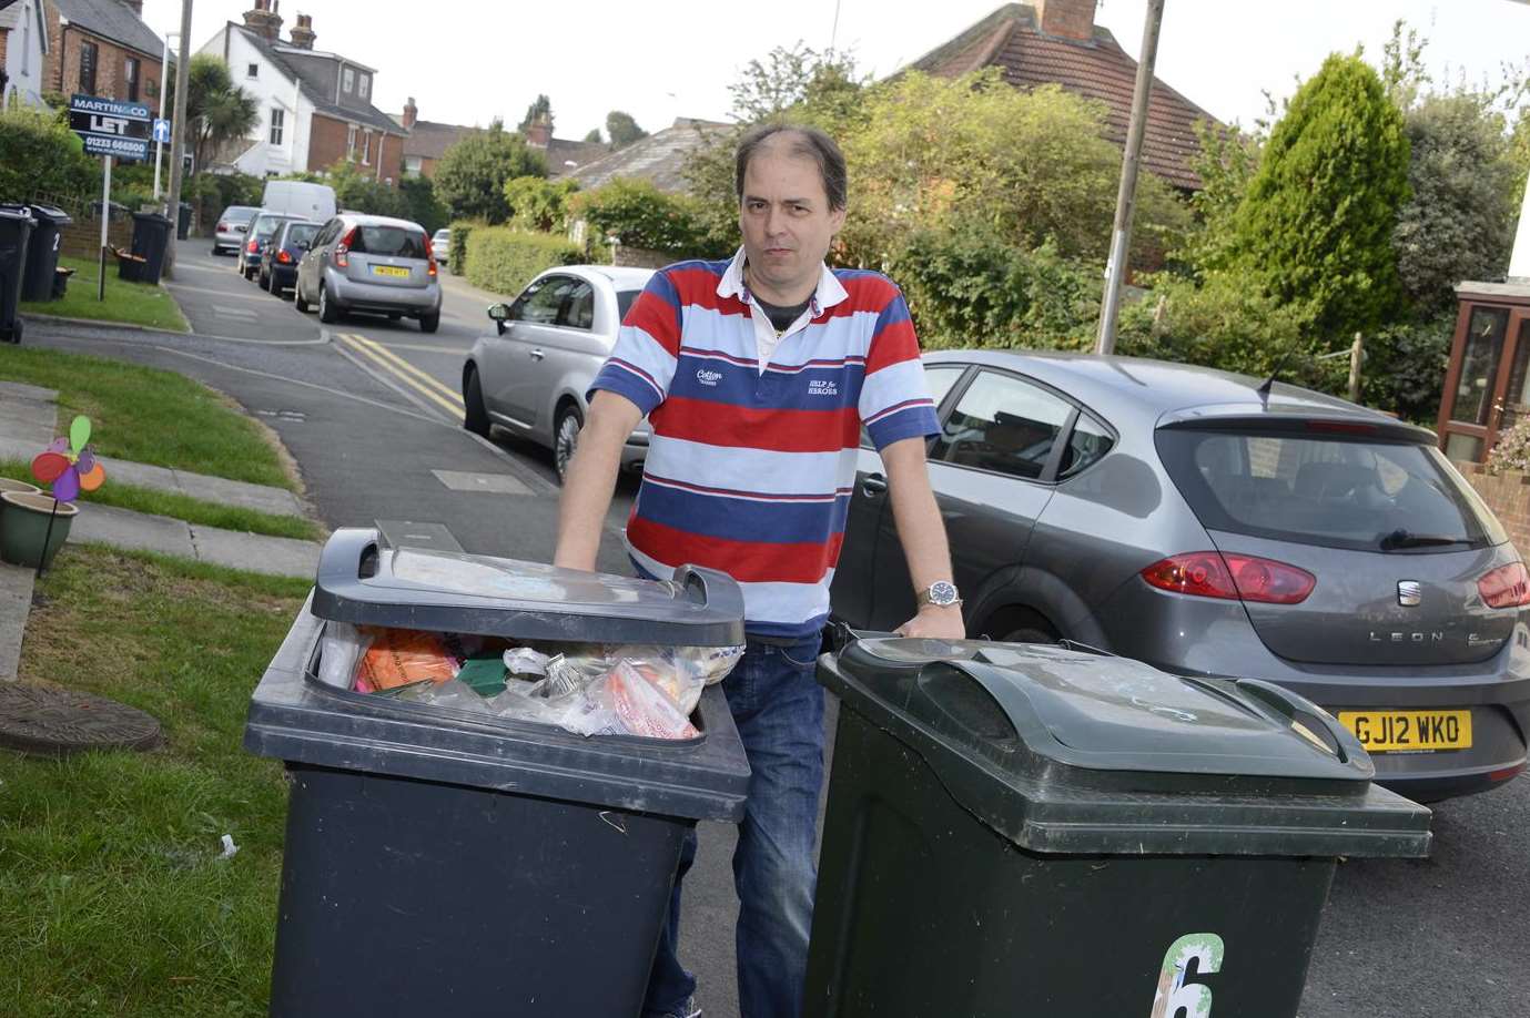
[[617,491],[621,446],[643,420],[643,410],[626,396],[600,390],[589,400],[589,419],[578,433],[578,446],[563,480],[558,501],[558,547],[554,566],[595,570],[600,533]]

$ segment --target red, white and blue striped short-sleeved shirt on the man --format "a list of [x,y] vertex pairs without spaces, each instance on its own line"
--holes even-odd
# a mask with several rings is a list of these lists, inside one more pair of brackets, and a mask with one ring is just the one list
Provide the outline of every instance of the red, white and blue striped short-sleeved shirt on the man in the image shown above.
[[667,576],[693,562],[744,588],[745,630],[822,628],[845,538],[861,425],[877,449],[938,431],[898,287],[823,269],[808,310],[762,365],[765,312],[731,261],[661,269],[591,384],[626,396],[653,437],[627,552]]

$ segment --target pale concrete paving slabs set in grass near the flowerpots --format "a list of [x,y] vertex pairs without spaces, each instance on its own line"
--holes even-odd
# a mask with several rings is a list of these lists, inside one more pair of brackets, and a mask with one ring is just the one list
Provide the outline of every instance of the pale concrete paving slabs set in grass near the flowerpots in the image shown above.
[[[31,460],[60,434],[58,393],[37,385],[0,382],[0,459]],[[242,506],[260,512],[309,517],[308,507],[291,491],[245,481],[207,477],[99,457],[107,478],[118,485],[153,488],[202,501]],[[280,576],[312,576],[318,567],[320,544],[294,538],[265,537],[191,524],[113,506],[98,506],[87,498],[76,503],[80,515],[69,530],[70,543],[159,552],[200,562],[228,566]],[[15,679],[21,656],[21,636],[32,607],[35,570],[0,562],[0,679]]]

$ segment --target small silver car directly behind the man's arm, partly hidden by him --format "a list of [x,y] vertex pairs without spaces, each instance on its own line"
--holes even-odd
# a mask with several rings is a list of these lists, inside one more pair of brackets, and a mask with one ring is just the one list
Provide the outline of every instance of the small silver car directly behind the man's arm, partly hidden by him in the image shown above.
[[[617,342],[617,327],[652,269],[569,264],[548,269],[509,304],[493,304],[494,332],[479,336],[462,365],[464,426],[491,425],[552,449],[562,478],[589,410],[584,393]],[[649,454],[644,420],[621,451],[624,469]]]

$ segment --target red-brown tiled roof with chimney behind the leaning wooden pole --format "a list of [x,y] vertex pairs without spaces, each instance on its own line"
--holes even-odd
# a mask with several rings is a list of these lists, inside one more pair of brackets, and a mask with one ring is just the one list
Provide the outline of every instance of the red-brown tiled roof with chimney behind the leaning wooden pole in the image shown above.
[[[1105,133],[1125,147],[1137,60],[1121,49],[1109,29],[1094,23],[1094,9],[1095,0],[1007,3],[909,66],[949,78],[998,67],[1017,89],[1059,84],[1103,102]],[[1196,121],[1218,124],[1215,116],[1154,78],[1143,167],[1181,191],[1201,190],[1201,179],[1192,168],[1200,153]]]

